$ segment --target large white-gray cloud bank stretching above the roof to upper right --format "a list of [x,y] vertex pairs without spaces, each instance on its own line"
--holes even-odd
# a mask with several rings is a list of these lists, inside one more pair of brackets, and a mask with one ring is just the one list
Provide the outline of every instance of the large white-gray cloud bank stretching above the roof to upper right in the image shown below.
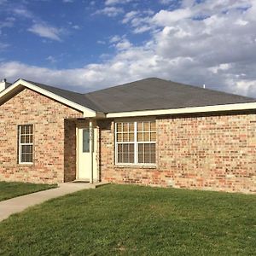
[[81,68],[50,69],[2,62],[0,77],[15,80],[22,74],[46,84],[78,86],[81,91],[160,77],[256,96],[255,1],[187,0],[179,12],[147,15],[136,11],[130,17],[125,15],[123,22],[132,31],[147,26],[151,38],[135,46],[127,36],[113,36],[109,43],[116,54],[104,55],[102,63]]

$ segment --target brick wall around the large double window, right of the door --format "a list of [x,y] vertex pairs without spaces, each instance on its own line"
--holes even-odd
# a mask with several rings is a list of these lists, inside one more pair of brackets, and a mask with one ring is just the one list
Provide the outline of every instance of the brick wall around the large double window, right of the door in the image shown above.
[[113,121],[101,131],[102,180],[256,192],[256,114],[162,118],[155,167],[114,166]]

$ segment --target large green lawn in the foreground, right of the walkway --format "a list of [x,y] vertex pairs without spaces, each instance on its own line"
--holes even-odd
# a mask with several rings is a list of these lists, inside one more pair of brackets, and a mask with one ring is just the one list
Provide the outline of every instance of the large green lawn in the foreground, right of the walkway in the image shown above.
[[108,185],[0,223],[3,255],[255,255],[256,196]]

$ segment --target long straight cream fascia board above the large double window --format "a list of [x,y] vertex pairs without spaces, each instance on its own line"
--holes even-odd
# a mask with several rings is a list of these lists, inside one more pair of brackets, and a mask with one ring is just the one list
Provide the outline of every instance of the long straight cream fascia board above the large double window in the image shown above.
[[256,102],[214,105],[214,106],[194,107],[194,108],[171,108],[171,109],[160,109],[160,110],[107,113],[106,117],[122,118],[122,117],[135,117],[135,116],[148,116],[148,115],[165,115],[165,114],[176,114],[176,113],[205,113],[205,112],[219,112],[219,111],[247,110],[247,109],[256,109]]

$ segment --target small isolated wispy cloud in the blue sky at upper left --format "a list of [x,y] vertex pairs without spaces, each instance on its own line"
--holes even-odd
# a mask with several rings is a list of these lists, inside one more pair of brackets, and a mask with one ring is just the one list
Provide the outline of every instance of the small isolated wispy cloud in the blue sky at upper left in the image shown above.
[[60,36],[62,30],[54,26],[47,26],[46,24],[36,23],[30,27],[28,31],[38,35],[41,38],[49,38],[55,41],[61,41]]

